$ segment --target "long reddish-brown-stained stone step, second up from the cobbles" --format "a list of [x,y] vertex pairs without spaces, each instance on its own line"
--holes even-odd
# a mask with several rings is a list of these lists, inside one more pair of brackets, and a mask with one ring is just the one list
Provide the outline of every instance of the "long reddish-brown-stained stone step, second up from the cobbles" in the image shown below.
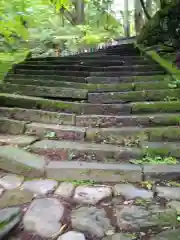
[[30,146],[32,152],[48,156],[51,160],[78,161],[128,161],[138,158],[138,148],[119,147],[110,144],[95,144],[73,141],[42,140]]

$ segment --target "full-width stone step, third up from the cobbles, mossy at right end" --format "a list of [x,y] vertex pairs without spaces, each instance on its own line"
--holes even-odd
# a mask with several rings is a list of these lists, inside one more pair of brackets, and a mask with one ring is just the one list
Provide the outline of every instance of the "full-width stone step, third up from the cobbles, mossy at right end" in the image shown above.
[[140,147],[144,141],[180,141],[180,128],[167,127],[108,127],[88,128],[70,125],[27,123],[14,119],[0,118],[0,132],[6,134],[27,134],[39,138],[56,140],[88,141]]

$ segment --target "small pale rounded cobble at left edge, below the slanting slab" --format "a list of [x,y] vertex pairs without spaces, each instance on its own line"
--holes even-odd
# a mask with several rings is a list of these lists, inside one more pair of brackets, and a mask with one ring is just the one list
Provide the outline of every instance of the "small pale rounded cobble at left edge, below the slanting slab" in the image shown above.
[[7,174],[4,177],[0,178],[0,185],[7,189],[15,189],[21,186],[24,178],[15,174]]

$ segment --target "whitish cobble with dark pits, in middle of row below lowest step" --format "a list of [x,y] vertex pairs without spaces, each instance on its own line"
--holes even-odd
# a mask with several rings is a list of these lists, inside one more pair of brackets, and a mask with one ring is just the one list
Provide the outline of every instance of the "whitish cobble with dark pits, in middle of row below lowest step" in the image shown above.
[[108,186],[79,186],[75,189],[74,200],[78,203],[95,205],[111,195],[112,189]]

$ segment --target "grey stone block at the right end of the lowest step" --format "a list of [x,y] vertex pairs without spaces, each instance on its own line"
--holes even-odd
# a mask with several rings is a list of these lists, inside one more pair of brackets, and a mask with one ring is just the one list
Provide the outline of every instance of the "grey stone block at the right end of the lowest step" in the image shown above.
[[180,177],[180,164],[144,165],[145,180],[176,180]]

